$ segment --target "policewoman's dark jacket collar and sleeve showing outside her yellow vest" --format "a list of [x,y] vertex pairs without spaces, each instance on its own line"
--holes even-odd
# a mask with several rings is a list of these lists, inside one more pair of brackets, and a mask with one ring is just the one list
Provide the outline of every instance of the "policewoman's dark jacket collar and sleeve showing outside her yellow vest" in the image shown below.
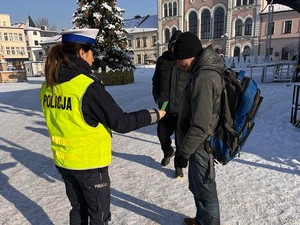
[[[58,75],[59,83],[67,82],[79,74],[89,76],[91,68],[84,60],[69,55],[70,66],[60,69]],[[125,113],[115,102],[113,97],[105,90],[101,81],[95,77],[86,90],[82,99],[82,112],[85,121],[91,126],[97,126],[102,123],[111,130],[119,133],[126,133],[151,123],[151,117],[148,110],[139,110],[136,112]]]

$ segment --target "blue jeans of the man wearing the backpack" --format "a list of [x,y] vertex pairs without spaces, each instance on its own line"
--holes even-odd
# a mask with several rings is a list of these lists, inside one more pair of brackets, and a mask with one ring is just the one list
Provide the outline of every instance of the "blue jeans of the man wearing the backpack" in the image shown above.
[[200,150],[189,159],[189,189],[194,195],[197,208],[196,221],[202,225],[220,225],[220,209],[215,182],[215,168],[213,179],[209,177],[209,154]]

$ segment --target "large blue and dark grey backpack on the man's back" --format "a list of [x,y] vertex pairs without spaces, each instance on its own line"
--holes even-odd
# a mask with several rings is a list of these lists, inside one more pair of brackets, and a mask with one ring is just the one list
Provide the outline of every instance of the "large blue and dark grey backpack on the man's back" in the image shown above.
[[[204,68],[201,68],[204,69]],[[254,127],[254,119],[263,100],[255,81],[245,71],[216,70],[224,80],[219,124],[205,142],[205,149],[223,165],[236,157]]]

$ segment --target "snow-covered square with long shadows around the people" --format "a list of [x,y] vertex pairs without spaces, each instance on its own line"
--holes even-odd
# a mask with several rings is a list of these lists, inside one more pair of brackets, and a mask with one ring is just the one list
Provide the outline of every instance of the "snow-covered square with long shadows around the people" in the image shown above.
[[[250,74],[249,69],[246,69]],[[124,111],[155,107],[153,68],[107,87]],[[293,83],[261,83],[264,100],[239,158],[216,165],[222,225],[296,225],[300,219],[300,128],[290,122]],[[0,224],[68,224],[69,201],[57,173],[39,105],[44,78],[0,84]],[[174,144],[173,144],[174,145]],[[176,225],[195,216],[187,169],[174,179],[160,166],[156,125],[113,134],[110,225]]]

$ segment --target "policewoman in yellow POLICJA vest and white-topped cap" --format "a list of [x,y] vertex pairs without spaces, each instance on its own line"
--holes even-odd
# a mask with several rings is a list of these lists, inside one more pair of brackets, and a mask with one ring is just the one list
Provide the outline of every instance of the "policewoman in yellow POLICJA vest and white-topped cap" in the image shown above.
[[40,90],[53,158],[71,203],[71,225],[110,221],[111,130],[126,133],[157,123],[156,109],[125,113],[91,74],[98,29],[62,32],[45,63]]

